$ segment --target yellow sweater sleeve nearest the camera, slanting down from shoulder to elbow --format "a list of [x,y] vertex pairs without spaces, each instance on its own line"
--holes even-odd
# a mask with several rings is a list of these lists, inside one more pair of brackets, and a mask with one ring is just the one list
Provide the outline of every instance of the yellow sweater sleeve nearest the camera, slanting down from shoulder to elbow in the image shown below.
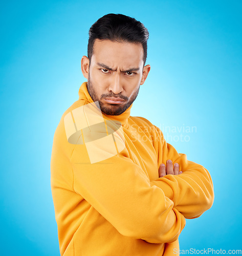
[[76,146],[71,157],[74,190],[123,236],[149,243],[178,239],[185,226],[183,215],[161,188],[151,186],[125,150],[94,164],[86,163],[87,157],[84,146]]

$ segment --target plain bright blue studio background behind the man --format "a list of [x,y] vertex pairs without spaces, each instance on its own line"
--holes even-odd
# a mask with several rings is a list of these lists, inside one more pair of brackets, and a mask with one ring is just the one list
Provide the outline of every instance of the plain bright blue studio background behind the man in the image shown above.
[[187,221],[181,249],[241,249],[241,12],[241,1],[221,0],[2,1],[1,255],[59,255],[53,135],[85,81],[88,30],[107,13],[150,33],[151,71],[131,115],[164,126],[167,142],[213,178],[214,204]]

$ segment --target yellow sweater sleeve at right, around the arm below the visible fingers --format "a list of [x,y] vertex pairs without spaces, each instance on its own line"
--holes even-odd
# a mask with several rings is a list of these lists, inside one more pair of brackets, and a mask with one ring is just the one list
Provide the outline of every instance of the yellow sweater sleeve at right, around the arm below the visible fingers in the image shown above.
[[155,147],[158,150],[158,166],[166,164],[171,159],[173,164],[179,163],[182,174],[165,175],[152,185],[160,187],[164,194],[173,201],[177,209],[187,219],[201,216],[208,210],[214,200],[211,176],[202,165],[187,160],[185,154],[179,154],[175,148],[167,143],[160,129],[156,127],[159,139]]

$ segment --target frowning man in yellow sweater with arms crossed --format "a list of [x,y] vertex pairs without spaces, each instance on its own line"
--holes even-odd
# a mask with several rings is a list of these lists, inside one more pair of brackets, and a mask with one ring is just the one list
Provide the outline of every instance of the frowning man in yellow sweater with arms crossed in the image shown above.
[[107,14],[89,36],[81,60],[87,82],[63,114],[52,150],[60,254],[177,254],[185,218],[213,203],[211,177],[158,127],[130,116],[150,71],[144,25]]

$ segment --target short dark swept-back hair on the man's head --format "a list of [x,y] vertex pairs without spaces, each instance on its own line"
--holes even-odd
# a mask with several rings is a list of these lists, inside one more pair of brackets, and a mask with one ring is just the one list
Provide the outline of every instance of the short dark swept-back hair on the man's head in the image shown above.
[[109,13],[99,18],[89,30],[87,57],[91,61],[95,39],[141,43],[144,51],[143,60],[145,65],[148,38],[148,30],[135,18],[123,14]]

